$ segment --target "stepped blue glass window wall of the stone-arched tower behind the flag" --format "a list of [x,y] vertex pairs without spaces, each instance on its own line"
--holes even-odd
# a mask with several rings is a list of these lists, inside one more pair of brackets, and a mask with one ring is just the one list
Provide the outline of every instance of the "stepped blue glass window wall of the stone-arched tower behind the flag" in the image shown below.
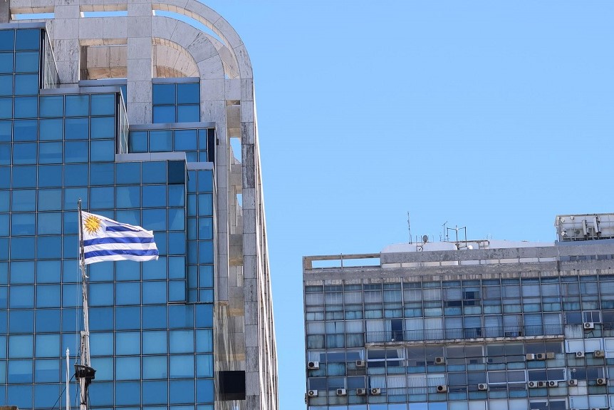
[[[153,230],[160,250],[155,262],[90,265],[90,406],[212,410],[214,130],[192,123],[126,138],[119,88],[41,90],[53,85],[42,78],[46,44],[43,29],[0,29],[0,404],[64,403],[64,355],[78,356],[83,326],[81,199],[84,210]],[[175,121],[164,122],[199,121],[185,116],[190,86],[187,102],[175,91]],[[185,158],[129,155],[170,151]]]

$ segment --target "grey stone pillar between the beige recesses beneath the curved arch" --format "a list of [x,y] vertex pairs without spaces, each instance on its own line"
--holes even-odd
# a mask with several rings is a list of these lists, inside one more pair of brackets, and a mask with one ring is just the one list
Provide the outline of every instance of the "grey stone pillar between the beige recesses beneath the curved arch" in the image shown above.
[[128,1],[128,122],[152,123],[151,1]]

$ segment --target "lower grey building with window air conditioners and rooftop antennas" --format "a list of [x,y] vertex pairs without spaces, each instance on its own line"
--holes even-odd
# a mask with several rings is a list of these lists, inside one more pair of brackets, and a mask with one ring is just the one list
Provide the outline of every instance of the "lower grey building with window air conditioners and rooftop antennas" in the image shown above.
[[304,257],[308,409],[614,408],[614,215],[555,225]]

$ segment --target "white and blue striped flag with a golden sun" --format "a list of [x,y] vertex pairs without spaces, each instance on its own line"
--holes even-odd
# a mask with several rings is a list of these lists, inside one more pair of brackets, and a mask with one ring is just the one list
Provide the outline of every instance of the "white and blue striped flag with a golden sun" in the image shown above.
[[81,212],[85,265],[105,260],[157,260],[153,232]]

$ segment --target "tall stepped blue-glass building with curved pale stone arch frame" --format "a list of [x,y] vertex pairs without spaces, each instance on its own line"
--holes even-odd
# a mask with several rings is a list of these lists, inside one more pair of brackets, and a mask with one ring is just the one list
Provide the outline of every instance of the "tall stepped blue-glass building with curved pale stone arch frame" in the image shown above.
[[65,405],[79,199],[160,250],[88,269],[90,408],[277,409],[254,83],[219,14],[0,2],[0,404]]

